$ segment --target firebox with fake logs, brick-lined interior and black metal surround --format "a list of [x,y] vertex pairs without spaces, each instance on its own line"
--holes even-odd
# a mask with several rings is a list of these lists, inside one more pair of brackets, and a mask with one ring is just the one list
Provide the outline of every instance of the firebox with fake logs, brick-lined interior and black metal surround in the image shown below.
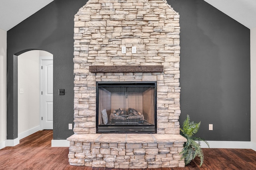
[[156,82],[96,82],[97,133],[156,133]]

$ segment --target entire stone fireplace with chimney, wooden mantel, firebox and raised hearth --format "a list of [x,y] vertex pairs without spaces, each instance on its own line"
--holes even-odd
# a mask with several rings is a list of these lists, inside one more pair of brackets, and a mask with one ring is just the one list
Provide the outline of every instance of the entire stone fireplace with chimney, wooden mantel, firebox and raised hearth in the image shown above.
[[165,0],[89,0],[80,8],[71,165],[185,166],[179,34],[179,14]]

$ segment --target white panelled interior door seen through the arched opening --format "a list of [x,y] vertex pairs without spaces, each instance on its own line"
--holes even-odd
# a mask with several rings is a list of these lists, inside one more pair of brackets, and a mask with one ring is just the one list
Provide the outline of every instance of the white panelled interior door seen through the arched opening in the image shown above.
[[53,60],[42,60],[42,129],[53,129]]

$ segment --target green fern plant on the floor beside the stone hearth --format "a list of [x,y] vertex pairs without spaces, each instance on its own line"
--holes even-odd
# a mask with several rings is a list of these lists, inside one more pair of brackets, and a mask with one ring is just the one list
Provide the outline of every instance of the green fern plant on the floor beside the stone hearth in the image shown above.
[[208,142],[200,137],[194,137],[193,135],[198,132],[201,121],[199,123],[190,122],[190,117],[187,115],[187,118],[184,120],[182,128],[180,128],[180,135],[187,139],[187,142],[184,143],[184,148],[180,154],[185,160],[185,165],[188,165],[196,156],[200,158],[200,166],[204,163],[204,153],[200,147],[200,141],[204,141],[210,148]]

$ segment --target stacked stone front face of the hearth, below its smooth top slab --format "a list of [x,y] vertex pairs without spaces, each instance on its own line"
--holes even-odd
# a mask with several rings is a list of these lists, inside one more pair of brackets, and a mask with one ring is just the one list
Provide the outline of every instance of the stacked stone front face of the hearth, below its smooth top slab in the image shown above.
[[71,142],[69,162],[95,168],[184,167],[179,154],[183,143],[87,143]]

